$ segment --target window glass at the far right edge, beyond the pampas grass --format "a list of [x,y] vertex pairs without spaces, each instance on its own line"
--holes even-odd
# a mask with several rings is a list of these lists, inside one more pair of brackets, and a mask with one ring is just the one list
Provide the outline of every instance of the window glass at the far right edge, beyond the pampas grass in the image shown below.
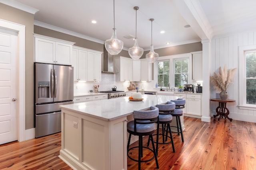
[[246,104],[256,104],[256,51],[246,51]]

